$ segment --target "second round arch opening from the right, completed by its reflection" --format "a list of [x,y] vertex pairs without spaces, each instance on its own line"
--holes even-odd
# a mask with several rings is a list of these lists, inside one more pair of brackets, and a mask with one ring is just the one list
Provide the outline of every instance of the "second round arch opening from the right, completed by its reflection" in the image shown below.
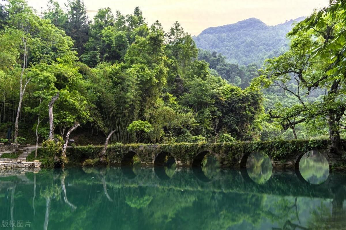
[[272,161],[263,152],[253,152],[247,158],[246,171],[254,182],[264,184],[272,176]]

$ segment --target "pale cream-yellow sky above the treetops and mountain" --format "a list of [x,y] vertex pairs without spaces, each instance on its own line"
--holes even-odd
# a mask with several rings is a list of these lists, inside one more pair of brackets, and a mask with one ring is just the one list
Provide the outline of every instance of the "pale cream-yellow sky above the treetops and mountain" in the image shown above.
[[[67,0],[56,0],[63,7]],[[40,13],[45,0],[28,0]],[[101,7],[113,12],[132,13],[136,6],[143,11],[149,24],[159,20],[165,30],[175,21],[192,35],[208,27],[235,23],[247,18],[259,18],[268,25],[308,16],[313,9],[325,7],[328,0],[84,0],[90,17]]]

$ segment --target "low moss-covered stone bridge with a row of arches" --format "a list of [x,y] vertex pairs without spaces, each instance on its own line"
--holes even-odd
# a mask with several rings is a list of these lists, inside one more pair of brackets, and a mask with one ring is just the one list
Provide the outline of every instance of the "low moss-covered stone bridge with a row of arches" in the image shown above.
[[[115,144],[110,145],[106,155],[110,164],[129,165],[137,156],[143,166],[160,166],[166,156],[174,158],[177,166],[200,166],[204,156],[211,154],[221,167],[241,168],[252,152],[263,152],[272,160],[273,168],[299,168],[299,161],[308,151],[324,154],[329,167],[341,168],[342,157],[327,151],[328,140],[293,140],[233,143],[179,143],[179,144]],[[102,146],[70,148],[68,155],[80,162],[99,157]]]

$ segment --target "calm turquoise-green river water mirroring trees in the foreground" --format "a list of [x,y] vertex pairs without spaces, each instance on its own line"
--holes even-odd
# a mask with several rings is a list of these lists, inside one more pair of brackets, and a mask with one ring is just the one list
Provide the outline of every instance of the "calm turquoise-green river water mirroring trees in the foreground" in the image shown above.
[[1,229],[346,229],[345,173],[260,164],[1,173]]

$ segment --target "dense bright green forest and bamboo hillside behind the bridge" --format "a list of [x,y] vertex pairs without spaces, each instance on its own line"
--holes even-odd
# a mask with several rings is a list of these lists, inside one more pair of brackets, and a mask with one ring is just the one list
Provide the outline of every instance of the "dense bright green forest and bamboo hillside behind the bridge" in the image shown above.
[[123,143],[258,139],[259,90],[211,74],[178,22],[165,32],[138,7],[101,8],[92,21],[83,1],[66,7],[49,1],[39,16],[25,0],[0,4],[0,138],[66,141],[76,129],[77,144],[112,130]]

